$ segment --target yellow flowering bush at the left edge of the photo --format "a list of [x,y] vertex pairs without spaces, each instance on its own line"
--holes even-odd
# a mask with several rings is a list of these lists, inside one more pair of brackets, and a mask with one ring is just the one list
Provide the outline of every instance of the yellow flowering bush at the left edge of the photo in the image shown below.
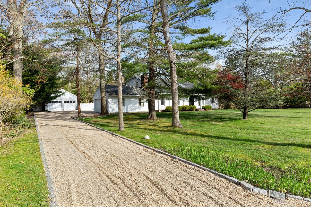
[[0,65],[0,133],[10,126],[8,119],[30,107],[33,95],[34,90],[22,85]]

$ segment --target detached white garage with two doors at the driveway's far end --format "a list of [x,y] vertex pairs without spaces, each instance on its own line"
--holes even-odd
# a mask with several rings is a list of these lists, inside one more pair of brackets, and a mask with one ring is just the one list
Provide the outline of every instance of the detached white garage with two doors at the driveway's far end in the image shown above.
[[77,109],[77,96],[67,90],[59,90],[62,93],[58,98],[50,101],[48,111],[74,111]]

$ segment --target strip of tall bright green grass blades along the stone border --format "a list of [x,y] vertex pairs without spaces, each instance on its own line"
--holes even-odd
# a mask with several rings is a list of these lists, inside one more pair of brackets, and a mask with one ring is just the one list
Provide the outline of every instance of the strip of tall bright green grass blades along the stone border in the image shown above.
[[[266,171],[264,166],[251,163],[248,160],[225,155],[219,151],[200,146],[174,146],[172,144],[156,144],[152,147],[176,155],[193,163],[210,168],[228,176],[246,181],[263,189],[281,191],[295,195],[311,195],[311,172],[299,168],[291,168],[291,171],[299,171],[298,174],[286,173],[282,176],[277,172]],[[308,184],[309,183],[309,184]],[[307,186],[307,187],[306,187]]]

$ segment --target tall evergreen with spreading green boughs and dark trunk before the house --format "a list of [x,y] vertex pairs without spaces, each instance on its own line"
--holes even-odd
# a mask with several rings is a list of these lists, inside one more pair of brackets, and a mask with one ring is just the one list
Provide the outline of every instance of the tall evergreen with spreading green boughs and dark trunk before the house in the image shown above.
[[[224,41],[223,35],[211,34],[211,28],[195,28],[194,21],[196,18],[212,19],[214,12],[211,6],[220,0],[206,1],[187,1],[187,2],[170,2],[168,11],[169,32],[172,39],[172,47],[176,53],[177,76],[179,81],[200,82],[200,87],[207,87],[207,81],[213,78],[208,64],[214,58],[207,52],[207,49],[216,49],[227,45],[230,42]],[[152,1],[147,16],[136,16],[137,21],[146,25],[131,31],[137,33],[141,38],[132,42],[133,48],[139,48],[139,54],[142,50],[146,51],[144,58],[141,60],[149,65],[149,78],[146,87],[149,115],[148,118],[156,118],[155,113],[155,87],[157,86],[156,77],[161,79],[163,76],[169,77],[169,61],[165,41],[162,39],[163,30],[158,1]],[[160,21],[159,21],[160,20]],[[193,26],[189,26],[193,25]],[[188,41],[190,39],[190,41]],[[188,43],[187,43],[188,42]],[[203,66],[204,65],[204,66]],[[211,88],[209,87],[209,92]],[[185,92],[185,91],[183,91]]]

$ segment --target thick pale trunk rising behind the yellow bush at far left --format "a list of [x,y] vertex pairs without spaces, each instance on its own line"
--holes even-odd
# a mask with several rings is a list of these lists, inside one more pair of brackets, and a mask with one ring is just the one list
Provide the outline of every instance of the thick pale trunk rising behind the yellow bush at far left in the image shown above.
[[24,17],[18,11],[14,13],[14,21],[12,22],[13,35],[12,35],[12,44],[13,44],[13,77],[22,82],[22,74],[23,74],[23,45],[22,45],[22,37],[23,37],[23,21]]

